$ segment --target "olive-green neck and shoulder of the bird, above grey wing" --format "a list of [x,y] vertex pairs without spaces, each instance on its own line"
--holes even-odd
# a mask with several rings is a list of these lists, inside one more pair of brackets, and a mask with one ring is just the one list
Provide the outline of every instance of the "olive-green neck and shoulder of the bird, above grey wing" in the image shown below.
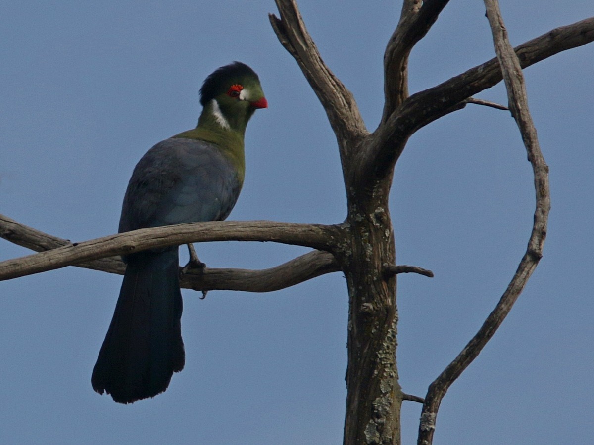
[[226,128],[216,119],[212,105],[207,104],[202,110],[196,128],[172,137],[198,139],[215,145],[233,163],[238,172],[239,181],[243,183],[245,176],[244,134],[248,119],[249,117],[245,119],[245,122],[238,122],[237,119],[228,121],[229,127]]

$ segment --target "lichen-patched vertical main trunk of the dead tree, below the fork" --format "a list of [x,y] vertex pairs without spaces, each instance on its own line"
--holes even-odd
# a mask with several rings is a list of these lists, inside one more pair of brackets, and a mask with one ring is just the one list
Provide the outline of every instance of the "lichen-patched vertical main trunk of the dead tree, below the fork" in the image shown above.
[[396,367],[396,263],[390,181],[349,195],[349,289],[345,444],[399,443],[402,392]]

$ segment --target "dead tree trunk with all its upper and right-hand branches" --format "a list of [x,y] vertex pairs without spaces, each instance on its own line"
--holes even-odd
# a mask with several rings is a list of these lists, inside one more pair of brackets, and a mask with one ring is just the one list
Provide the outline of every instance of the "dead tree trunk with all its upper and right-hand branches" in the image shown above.
[[[507,109],[476,100],[472,95],[500,82],[503,77],[508,91],[512,91],[510,79],[519,80],[517,85],[522,85],[520,63],[528,66],[562,50],[567,41],[558,40],[561,34],[564,38],[583,43],[594,39],[594,20],[587,20],[551,31],[516,48],[514,52],[507,38],[496,33],[494,21],[497,19],[492,17],[498,7],[493,3],[485,0],[499,60],[492,59],[437,87],[409,96],[407,65],[410,51],[435,23],[448,0],[404,1],[399,24],[384,54],[386,101],[380,126],[373,133],[366,131],[352,94],[322,61],[296,2],[276,0],[280,19],[270,16],[280,42],[295,58],[326,109],[337,136],[342,161],[348,214],[345,232],[332,252],[345,273],[349,290],[345,444],[400,444],[403,399],[424,402],[419,444],[431,443],[437,409],[445,391],[503,322],[542,256],[549,208],[548,169],[538,149],[536,132],[527,112],[525,91],[520,92],[516,86],[516,93],[509,93],[510,109],[518,122],[535,171],[535,225],[529,247],[500,304],[465,351],[461,352],[462,358],[457,357],[440,376],[441,380],[431,384],[426,400],[402,392],[396,366],[396,247],[388,195],[394,166],[407,140],[422,126],[462,109],[467,103]],[[499,23],[503,27],[503,21]],[[577,30],[582,26],[587,31]],[[589,37],[583,39],[586,35]],[[508,58],[507,62],[501,58],[502,51]],[[510,58],[515,60],[513,67]]]

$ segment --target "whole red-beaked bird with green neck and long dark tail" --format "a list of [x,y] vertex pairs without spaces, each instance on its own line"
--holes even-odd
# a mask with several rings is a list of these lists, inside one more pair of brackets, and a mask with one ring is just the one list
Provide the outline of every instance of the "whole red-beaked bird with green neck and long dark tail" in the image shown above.
[[[268,102],[254,70],[233,62],[204,80],[200,104],[194,129],[159,142],[138,161],[119,233],[228,217],[244,182],[247,123]],[[115,402],[154,397],[184,368],[178,250],[122,256],[124,280],[91,376],[93,389]]]

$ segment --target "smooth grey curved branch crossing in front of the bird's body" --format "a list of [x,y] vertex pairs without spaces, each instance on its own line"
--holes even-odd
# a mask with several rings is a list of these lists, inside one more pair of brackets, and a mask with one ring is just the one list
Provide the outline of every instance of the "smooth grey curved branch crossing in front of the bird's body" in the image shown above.
[[208,221],[143,228],[0,262],[0,280],[37,274],[112,255],[203,241],[275,241],[331,250],[342,226],[273,221]]

